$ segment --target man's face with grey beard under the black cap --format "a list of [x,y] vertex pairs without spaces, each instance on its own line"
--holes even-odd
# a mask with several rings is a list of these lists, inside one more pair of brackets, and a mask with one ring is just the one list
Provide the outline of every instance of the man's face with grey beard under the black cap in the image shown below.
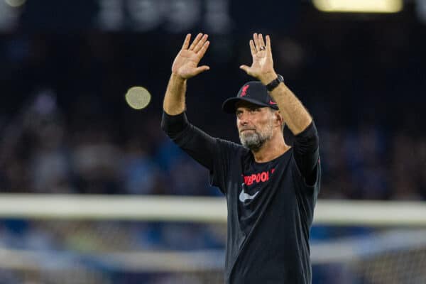
[[241,144],[252,151],[258,151],[273,136],[275,114],[268,107],[249,102],[236,104],[236,127]]

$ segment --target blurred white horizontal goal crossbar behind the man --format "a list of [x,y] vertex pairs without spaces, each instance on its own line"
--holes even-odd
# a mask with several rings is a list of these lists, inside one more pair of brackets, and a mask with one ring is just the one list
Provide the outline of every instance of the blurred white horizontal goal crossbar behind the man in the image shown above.
[[[226,222],[223,197],[1,194],[0,218]],[[315,224],[426,226],[426,202],[318,200]]]

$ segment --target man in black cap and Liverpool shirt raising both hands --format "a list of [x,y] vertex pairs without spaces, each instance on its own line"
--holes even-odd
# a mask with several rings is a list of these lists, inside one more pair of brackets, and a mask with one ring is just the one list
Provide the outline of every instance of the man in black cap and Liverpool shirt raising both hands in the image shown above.
[[[236,114],[241,145],[212,138],[185,116],[187,80],[209,70],[198,66],[207,35],[187,35],[165,92],[162,128],[180,148],[210,170],[226,196],[226,283],[311,283],[310,225],[320,190],[318,135],[312,117],[275,73],[271,39],[254,33],[253,62],[240,68],[248,82],[223,104]],[[293,147],[283,137],[287,124]]]

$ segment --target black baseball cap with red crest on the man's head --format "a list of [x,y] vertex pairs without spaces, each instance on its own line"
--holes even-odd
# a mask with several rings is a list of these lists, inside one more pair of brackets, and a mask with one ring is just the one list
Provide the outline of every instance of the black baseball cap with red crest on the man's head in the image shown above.
[[226,101],[222,104],[222,109],[227,114],[235,114],[235,104],[239,101],[251,102],[258,106],[278,109],[277,103],[273,101],[271,96],[268,94],[268,90],[260,81],[246,82],[246,84],[239,89],[236,97],[226,99]]

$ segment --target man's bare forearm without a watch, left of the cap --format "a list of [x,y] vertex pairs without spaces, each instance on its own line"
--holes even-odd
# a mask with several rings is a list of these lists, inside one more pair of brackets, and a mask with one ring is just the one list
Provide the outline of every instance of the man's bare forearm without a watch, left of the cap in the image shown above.
[[186,81],[172,73],[164,95],[163,110],[170,115],[185,111]]

